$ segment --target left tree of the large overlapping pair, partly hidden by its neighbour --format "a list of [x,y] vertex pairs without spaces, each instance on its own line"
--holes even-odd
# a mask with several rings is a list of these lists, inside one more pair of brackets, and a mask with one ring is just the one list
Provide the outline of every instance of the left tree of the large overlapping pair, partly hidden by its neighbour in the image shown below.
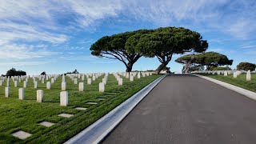
[[117,59],[126,66],[126,71],[130,72],[142,53],[135,50],[142,34],[151,33],[153,30],[135,30],[121,34],[114,34],[98,39],[90,46],[91,54],[103,58]]

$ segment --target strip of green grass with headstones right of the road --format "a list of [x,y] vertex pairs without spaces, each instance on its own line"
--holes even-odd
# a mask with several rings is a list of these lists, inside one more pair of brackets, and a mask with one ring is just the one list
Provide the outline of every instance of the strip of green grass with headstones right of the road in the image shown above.
[[238,75],[238,78],[233,78],[233,74],[228,76],[217,74],[201,74],[209,78],[214,78],[222,82],[230,83],[234,86],[242,87],[246,90],[256,92],[256,74],[251,74],[251,81],[246,81],[246,74]]

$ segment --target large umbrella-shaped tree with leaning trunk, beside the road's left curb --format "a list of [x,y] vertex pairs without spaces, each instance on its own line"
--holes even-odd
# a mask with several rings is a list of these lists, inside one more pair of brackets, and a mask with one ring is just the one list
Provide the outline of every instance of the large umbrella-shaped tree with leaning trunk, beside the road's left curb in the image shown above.
[[204,52],[208,48],[208,42],[202,40],[198,32],[183,27],[161,27],[153,33],[143,34],[135,48],[146,57],[158,58],[161,65],[158,66],[156,73],[159,74],[170,62],[173,54]]

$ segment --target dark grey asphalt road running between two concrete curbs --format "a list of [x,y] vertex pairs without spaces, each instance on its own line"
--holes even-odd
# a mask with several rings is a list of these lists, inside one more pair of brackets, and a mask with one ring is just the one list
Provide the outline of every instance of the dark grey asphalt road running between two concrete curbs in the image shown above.
[[195,76],[167,76],[102,143],[255,144],[256,101]]

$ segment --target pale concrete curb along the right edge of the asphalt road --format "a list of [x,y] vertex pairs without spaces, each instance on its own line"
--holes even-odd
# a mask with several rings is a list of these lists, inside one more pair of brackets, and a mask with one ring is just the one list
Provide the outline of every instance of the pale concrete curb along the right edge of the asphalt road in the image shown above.
[[205,77],[205,76],[202,76],[202,75],[199,75],[199,74],[191,74],[191,75],[195,75],[197,77],[200,77],[200,78],[204,78],[210,82],[214,82],[220,86],[224,86],[226,87],[227,89],[230,89],[230,90],[234,90],[235,92],[238,92],[239,94],[243,94],[245,95],[246,97],[248,98],[251,98],[251,99],[254,99],[256,100],[256,93],[250,91],[250,90],[246,90],[246,89],[243,89],[241,87],[238,87],[238,86],[234,86],[234,85],[231,85],[229,83],[226,83],[226,82],[222,82],[222,81],[218,81],[214,78],[208,78],[208,77]]

